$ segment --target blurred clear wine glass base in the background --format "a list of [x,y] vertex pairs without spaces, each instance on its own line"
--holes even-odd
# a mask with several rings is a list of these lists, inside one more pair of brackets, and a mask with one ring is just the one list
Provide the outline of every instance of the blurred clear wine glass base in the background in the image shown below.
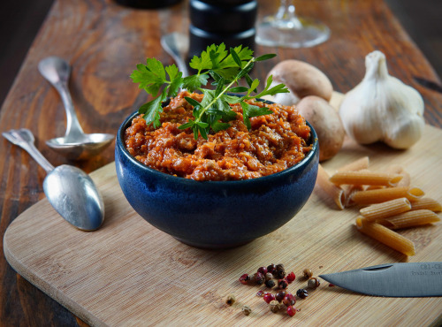
[[293,0],[280,0],[278,12],[256,26],[255,42],[268,47],[308,48],[329,38],[329,27],[316,19],[296,16]]

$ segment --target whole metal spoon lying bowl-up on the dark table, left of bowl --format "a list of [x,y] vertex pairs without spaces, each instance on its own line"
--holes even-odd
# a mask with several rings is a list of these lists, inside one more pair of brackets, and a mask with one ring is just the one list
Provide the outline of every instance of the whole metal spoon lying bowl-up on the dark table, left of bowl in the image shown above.
[[65,136],[46,141],[46,144],[72,160],[88,159],[108,147],[114,139],[114,135],[106,133],[85,134],[80,126],[67,87],[67,81],[71,73],[69,64],[60,57],[47,57],[38,64],[38,70],[57,89],[65,105],[67,118]]

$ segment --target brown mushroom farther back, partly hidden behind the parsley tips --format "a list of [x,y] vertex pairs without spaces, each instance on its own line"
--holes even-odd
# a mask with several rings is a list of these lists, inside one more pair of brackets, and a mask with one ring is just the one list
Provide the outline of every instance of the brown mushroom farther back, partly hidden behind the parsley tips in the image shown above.
[[308,95],[316,95],[330,101],[333,87],[329,78],[317,69],[300,60],[284,60],[275,65],[267,77],[273,76],[273,82],[283,83],[290,90],[289,94],[278,94],[273,101],[292,105]]

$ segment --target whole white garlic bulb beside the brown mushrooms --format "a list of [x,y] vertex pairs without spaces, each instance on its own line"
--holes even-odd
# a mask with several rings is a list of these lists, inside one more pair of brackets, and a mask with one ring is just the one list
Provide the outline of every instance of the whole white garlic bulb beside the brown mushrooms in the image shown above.
[[362,82],[345,95],[339,115],[347,134],[361,144],[383,141],[392,148],[409,148],[425,125],[423,98],[413,87],[388,74],[385,55],[365,57]]

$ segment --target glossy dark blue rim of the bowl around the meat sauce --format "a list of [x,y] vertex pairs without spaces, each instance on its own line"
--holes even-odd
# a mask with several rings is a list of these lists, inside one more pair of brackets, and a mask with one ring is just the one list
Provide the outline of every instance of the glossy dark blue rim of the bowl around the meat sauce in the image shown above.
[[[263,99],[258,99],[263,101],[264,103],[272,103],[268,100],[263,100]],[[159,177],[159,178],[164,178],[164,179],[171,179],[174,182],[179,182],[185,185],[217,185],[217,186],[240,186],[240,185],[245,185],[245,184],[255,184],[255,183],[262,183],[262,182],[267,182],[270,181],[271,179],[278,179],[278,178],[284,178],[286,175],[290,175],[293,171],[296,171],[298,169],[301,169],[303,166],[306,166],[310,163],[310,161],[314,158],[314,156],[316,155],[316,152],[319,151],[319,142],[317,139],[317,134],[315,129],[313,128],[313,126],[309,123],[309,121],[307,121],[306,119],[306,124],[309,125],[310,127],[310,140],[313,141],[313,147],[311,148],[311,150],[309,151],[309,153],[307,154],[307,156],[305,156],[299,163],[297,164],[293,164],[293,166],[286,168],[283,171],[278,171],[275,173],[272,173],[270,175],[266,175],[266,176],[262,176],[262,177],[258,177],[255,179],[238,179],[238,180],[194,180],[194,179],[185,179],[183,177],[179,177],[179,176],[174,176],[174,175],[170,175],[168,173],[162,172],[162,171],[157,171],[154,168],[150,168],[149,166],[147,166],[146,164],[142,164],[140,161],[138,161],[137,159],[135,159],[134,156],[132,156],[129,151],[127,150],[125,143],[123,142],[124,140],[124,132],[126,131],[126,128],[128,127],[129,123],[132,122],[133,118],[135,118],[136,116],[140,115],[140,113],[138,112],[138,110],[133,111],[133,113],[131,115],[129,115],[125,121],[119,126],[118,128],[118,133],[117,133],[117,140],[116,140],[116,149],[119,148],[122,152],[122,154],[124,156],[126,156],[132,164],[135,164],[135,166],[137,166],[138,168],[140,168],[141,170],[145,170],[145,171],[149,171],[149,173],[154,174],[155,176]]]

